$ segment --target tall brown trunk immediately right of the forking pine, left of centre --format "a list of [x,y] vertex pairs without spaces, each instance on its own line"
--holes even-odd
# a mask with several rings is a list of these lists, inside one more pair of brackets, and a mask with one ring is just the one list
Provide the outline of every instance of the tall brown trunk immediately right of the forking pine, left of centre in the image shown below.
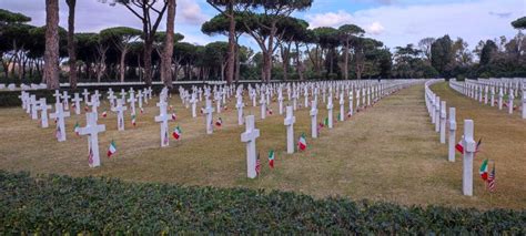
[[164,52],[161,58],[161,81],[166,88],[172,89],[172,55],[173,55],[173,27],[175,21],[175,0],[168,0],[166,12],[166,38],[164,39]]

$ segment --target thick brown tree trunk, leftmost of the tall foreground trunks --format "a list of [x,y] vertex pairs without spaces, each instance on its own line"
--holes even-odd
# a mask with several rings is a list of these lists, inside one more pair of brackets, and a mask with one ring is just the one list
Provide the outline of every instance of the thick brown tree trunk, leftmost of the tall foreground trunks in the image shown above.
[[59,0],[45,0],[44,80],[49,90],[59,84]]

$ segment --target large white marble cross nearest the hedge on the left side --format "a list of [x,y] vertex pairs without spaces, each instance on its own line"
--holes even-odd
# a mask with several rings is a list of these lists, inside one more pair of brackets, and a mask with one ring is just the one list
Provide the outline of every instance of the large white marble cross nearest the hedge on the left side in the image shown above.
[[87,125],[85,127],[79,127],[79,135],[89,135],[88,137],[88,164],[90,167],[97,167],[101,165],[101,158],[99,153],[99,133],[105,131],[105,125],[97,124],[95,113],[87,113]]

